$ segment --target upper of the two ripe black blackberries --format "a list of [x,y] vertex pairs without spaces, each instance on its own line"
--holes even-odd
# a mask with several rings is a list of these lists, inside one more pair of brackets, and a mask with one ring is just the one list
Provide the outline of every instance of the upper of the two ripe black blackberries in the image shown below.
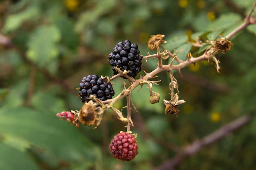
[[109,64],[112,66],[114,75],[118,74],[117,70],[115,70],[116,66],[120,68],[121,71],[130,71],[127,73],[130,77],[135,77],[141,71],[142,56],[139,55],[137,44],[131,44],[129,40],[119,42],[108,55],[108,60]]

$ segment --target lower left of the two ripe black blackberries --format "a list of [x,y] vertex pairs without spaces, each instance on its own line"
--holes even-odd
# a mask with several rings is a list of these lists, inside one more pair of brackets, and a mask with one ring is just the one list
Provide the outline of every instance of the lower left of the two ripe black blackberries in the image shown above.
[[81,97],[81,102],[89,102],[88,97],[94,95],[100,100],[104,101],[107,99],[112,99],[115,95],[112,85],[104,82],[98,75],[88,75],[83,77],[81,83],[79,84],[79,96]]

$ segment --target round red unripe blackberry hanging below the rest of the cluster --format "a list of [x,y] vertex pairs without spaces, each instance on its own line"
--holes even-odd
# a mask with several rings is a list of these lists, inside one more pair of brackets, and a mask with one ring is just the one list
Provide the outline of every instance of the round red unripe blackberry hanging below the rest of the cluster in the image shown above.
[[137,140],[131,134],[121,132],[115,135],[109,145],[110,153],[121,161],[130,161],[138,154]]

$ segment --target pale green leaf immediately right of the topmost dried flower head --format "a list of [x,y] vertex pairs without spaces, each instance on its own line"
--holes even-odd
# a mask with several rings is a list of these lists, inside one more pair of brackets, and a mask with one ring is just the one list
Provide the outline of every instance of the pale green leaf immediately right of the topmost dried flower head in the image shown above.
[[172,38],[167,38],[167,44],[165,45],[166,49],[173,51],[175,48],[185,44],[189,40],[187,35],[174,36]]

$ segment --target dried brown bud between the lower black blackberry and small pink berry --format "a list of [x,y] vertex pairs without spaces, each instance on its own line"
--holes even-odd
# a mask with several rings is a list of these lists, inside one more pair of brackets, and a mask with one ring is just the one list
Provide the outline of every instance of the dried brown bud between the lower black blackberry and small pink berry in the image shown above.
[[83,125],[93,126],[97,121],[97,113],[92,104],[84,104],[79,111],[79,121]]

